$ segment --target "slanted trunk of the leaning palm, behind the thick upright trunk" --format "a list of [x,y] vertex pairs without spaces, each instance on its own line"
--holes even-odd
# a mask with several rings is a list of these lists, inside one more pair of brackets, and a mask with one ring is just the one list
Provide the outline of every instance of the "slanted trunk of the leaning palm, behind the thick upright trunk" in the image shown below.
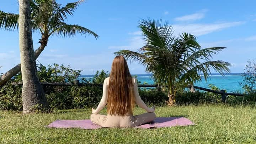
[[[46,44],[41,43],[41,46],[34,51],[34,59],[36,60],[38,56],[41,54],[41,52],[46,47]],[[14,66],[12,69],[7,71],[4,75],[0,77],[0,86],[4,85],[8,80],[10,80],[13,76],[18,74],[21,71],[21,65],[18,64]]]

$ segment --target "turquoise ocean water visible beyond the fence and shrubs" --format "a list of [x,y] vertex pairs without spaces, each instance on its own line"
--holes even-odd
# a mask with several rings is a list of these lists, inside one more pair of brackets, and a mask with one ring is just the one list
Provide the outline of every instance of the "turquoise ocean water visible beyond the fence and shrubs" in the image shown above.
[[[138,81],[145,82],[146,84],[154,84],[154,79],[151,78],[150,74],[137,74],[133,75],[137,76]],[[91,79],[93,75],[81,75],[78,79]],[[219,87],[220,89],[227,90],[228,92],[234,91],[243,91],[242,87],[240,86],[240,82],[242,82],[242,74],[241,73],[230,73],[222,76],[220,74],[212,74],[209,80],[206,82],[202,76],[202,82],[198,82],[194,84],[195,86],[200,86],[204,88],[208,88],[209,84],[214,84],[215,86]]]

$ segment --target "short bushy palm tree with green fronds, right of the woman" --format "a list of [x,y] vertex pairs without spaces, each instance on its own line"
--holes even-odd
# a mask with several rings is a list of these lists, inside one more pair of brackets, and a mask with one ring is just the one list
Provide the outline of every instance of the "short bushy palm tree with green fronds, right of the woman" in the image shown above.
[[207,81],[211,70],[222,75],[230,72],[230,63],[222,60],[210,61],[213,54],[225,47],[201,49],[193,34],[183,33],[175,38],[172,26],[167,22],[162,24],[161,20],[142,20],[139,27],[146,42],[145,46],[138,52],[120,50],[114,54],[138,61],[146,67],[147,73],[152,73],[156,84],[167,86],[168,105],[175,103],[177,89],[202,81],[199,73],[202,73]]

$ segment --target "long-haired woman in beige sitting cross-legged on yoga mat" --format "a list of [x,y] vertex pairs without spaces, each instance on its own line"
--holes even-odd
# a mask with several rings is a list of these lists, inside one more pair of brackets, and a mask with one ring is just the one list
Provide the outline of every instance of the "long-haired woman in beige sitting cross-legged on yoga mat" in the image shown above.
[[[133,116],[135,102],[146,110]],[[98,114],[107,104],[107,116]],[[155,108],[145,105],[139,96],[137,80],[130,75],[128,65],[123,56],[114,58],[110,77],[103,83],[103,96],[94,110],[91,121],[102,127],[134,127],[155,119]]]

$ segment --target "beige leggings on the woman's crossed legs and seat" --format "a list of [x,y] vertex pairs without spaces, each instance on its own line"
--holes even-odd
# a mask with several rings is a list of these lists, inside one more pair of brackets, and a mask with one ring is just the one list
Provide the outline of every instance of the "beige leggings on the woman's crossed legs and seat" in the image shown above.
[[107,114],[106,116],[103,114],[91,114],[91,121],[102,127],[124,128],[135,127],[145,123],[149,123],[153,121],[155,117],[156,116],[154,112],[143,113],[136,116],[132,116],[132,114],[129,114],[127,116],[111,116],[110,114]]

